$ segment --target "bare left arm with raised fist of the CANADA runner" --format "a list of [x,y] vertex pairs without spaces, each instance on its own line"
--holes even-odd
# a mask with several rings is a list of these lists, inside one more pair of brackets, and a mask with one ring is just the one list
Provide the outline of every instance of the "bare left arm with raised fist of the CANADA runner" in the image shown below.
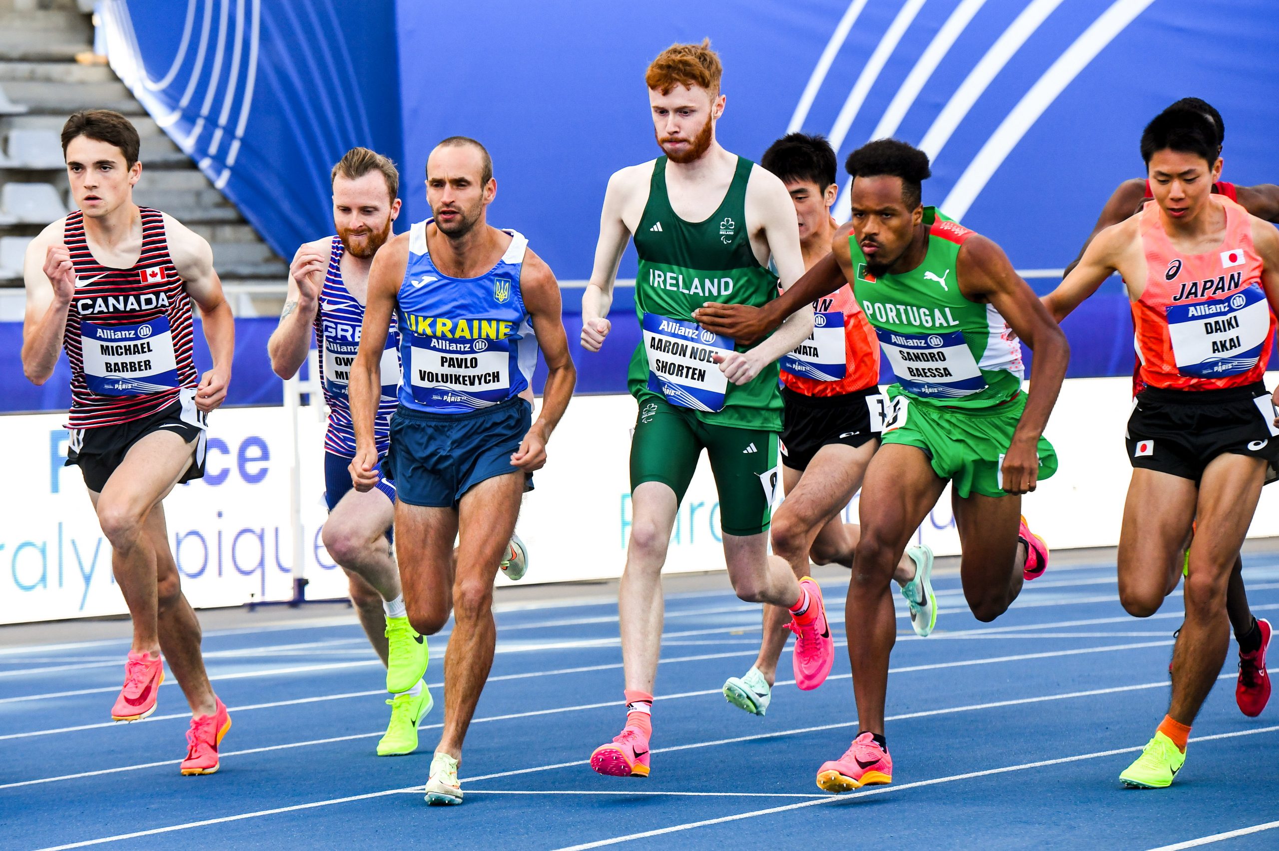
[[59,218],[27,245],[22,277],[27,286],[27,310],[22,317],[22,372],[42,385],[54,374],[63,351],[67,312],[75,294],[72,254],[63,245]]

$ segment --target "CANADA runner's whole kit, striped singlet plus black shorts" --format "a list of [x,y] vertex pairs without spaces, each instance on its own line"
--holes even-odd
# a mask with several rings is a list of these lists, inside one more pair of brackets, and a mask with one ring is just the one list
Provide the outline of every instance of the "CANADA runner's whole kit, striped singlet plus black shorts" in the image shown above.
[[90,252],[83,213],[67,216],[63,239],[75,267],[75,295],[63,344],[72,368],[67,464],[101,492],[129,447],[166,428],[198,437],[182,482],[205,474],[207,420],[196,409],[191,298],[169,256],[164,215],[139,207],[142,252],[130,268],[101,266]]

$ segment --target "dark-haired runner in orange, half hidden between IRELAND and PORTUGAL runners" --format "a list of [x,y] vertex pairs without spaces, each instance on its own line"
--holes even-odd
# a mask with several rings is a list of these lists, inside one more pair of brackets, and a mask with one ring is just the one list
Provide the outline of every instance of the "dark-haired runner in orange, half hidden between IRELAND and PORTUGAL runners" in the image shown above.
[[[790,133],[774,142],[760,165],[781,178],[799,220],[804,268],[830,253],[835,220],[830,207],[835,152],[820,135]],[[781,477],[787,498],[773,518],[773,552],[785,558],[797,578],[819,565],[853,566],[861,528],[840,518],[862,487],[862,477],[879,448],[884,396],[879,388],[879,339],[866,321],[853,289],[844,284],[812,304],[813,330],[781,359]],[[893,578],[911,608],[921,636],[936,624],[932,594],[932,551],[911,547]],[[744,676],[729,677],[724,696],[739,709],[762,716],[773,699],[778,659],[790,635],[789,612],[764,607],[760,656]]]

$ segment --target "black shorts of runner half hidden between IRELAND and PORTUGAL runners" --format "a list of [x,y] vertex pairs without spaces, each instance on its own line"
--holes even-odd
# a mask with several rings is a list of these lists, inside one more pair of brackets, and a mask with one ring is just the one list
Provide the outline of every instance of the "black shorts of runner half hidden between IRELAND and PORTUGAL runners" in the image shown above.
[[880,436],[884,396],[879,386],[840,396],[806,396],[781,388],[785,414],[781,425],[781,463],[803,470],[822,446],[839,443],[857,448]]

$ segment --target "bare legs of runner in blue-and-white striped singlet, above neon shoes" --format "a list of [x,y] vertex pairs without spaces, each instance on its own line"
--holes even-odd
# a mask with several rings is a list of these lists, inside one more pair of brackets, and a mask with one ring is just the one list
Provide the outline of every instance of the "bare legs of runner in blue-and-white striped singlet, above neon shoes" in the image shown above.
[[382,602],[400,594],[399,570],[386,540],[394,518],[395,506],[381,491],[349,491],[334,506],[321,533],[329,556],[347,572],[350,602],[384,664],[388,648]]

